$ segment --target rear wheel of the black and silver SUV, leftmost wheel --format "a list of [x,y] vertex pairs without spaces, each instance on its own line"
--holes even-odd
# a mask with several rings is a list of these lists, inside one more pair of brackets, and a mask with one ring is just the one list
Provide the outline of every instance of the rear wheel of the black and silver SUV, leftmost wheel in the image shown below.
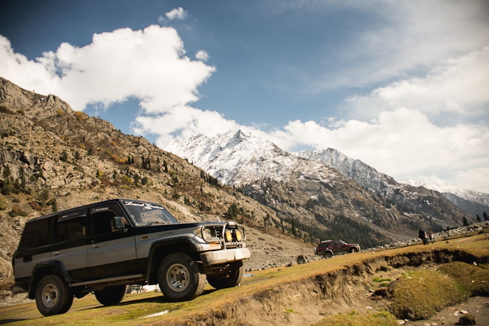
[[46,275],[36,288],[37,309],[44,316],[64,314],[73,303],[68,285],[57,275]]

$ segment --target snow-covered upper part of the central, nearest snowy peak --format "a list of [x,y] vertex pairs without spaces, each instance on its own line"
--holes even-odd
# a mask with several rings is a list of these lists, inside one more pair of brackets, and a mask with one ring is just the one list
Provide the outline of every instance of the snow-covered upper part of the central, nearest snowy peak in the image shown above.
[[298,172],[327,170],[323,164],[290,155],[272,142],[243,130],[214,137],[198,135],[175,139],[164,150],[187,158],[227,185],[268,177],[285,180]]

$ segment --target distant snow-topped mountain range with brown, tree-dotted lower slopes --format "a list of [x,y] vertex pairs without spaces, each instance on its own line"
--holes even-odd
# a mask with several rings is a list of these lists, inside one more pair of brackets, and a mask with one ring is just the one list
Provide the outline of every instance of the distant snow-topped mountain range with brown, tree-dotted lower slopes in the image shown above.
[[174,139],[165,150],[272,208],[267,222],[287,221],[305,241],[339,236],[375,246],[413,237],[420,226],[462,225],[464,213],[440,193],[398,184],[339,152],[300,157],[241,130]]

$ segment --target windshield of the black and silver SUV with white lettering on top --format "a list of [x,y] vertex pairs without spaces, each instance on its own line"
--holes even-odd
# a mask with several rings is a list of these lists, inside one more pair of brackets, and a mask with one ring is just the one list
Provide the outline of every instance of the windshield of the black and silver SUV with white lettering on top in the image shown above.
[[137,226],[178,223],[175,217],[159,204],[136,200],[123,200],[122,203]]

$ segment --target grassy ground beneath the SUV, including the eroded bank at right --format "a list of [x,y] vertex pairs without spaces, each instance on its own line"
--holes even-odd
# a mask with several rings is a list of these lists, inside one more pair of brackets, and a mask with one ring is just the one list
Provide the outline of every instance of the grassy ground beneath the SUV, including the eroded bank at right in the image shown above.
[[[430,262],[433,259],[444,260],[444,255],[445,259],[456,257],[456,262]],[[277,309],[277,315],[288,318],[278,320],[277,325],[301,325],[304,321],[317,326],[398,325],[397,319],[426,318],[446,305],[467,300],[469,296],[488,296],[488,257],[489,236],[476,234],[450,239],[448,243],[444,240],[428,246],[413,245],[379,252],[348,254],[291,267],[256,271],[252,276],[244,277],[240,287],[215,290],[207,284],[204,293],[189,302],[169,303],[159,292],[145,292],[127,295],[118,305],[102,306],[89,294],[82,299],[75,299],[66,314],[43,317],[32,301],[1,307],[0,324],[206,325],[206,320],[220,320],[220,325],[259,325],[260,319],[253,316],[273,307]],[[402,266],[400,277],[386,277],[400,270],[385,268],[386,264]],[[429,268],[420,268],[418,265]],[[342,278],[347,279],[344,281],[346,283],[343,283]],[[321,287],[324,288],[319,284],[321,280],[330,279],[333,280],[328,284],[330,287],[323,290],[326,294],[317,294]],[[394,279],[397,281],[391,283]],[[306,287],[307,284],[311,285]],[[310,292],[304,290],[313,285],[317,288],[312,288]],[[342,300],[354,302],[354,296],[367,287],[389,288],[392,296],[385,300],[389,300],[393,311],[333,311],[323,320],[316,318],[315,322],[309,322],[313,319],[313,316],[308,316],[309,311],[313,311],[318,303],[326,303],[328,296],[338,294],[339,297],[341,291]],[[289,299],[281,301],[275,298],[289,292]],[[353,297],[349,299],[347,296],[350,292]],[[292,295],[300,295],[302,302],[294,302]],[[310,300],[310,296],[317,298],[315,301]],[[246,307],[244,311],[239,309],[241,304]],[[273,316],[274,312],[267,311],[267,314]],[[240,315],[246,315],[241,323],[236,321]]]

